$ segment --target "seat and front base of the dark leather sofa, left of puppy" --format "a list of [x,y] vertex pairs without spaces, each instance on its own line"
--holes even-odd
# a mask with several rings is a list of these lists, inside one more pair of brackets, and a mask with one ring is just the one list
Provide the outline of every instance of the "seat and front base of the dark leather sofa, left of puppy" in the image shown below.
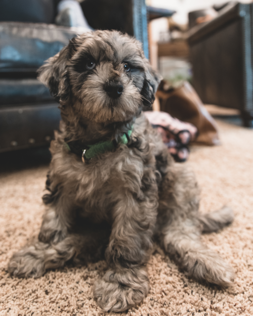
[[49,144],[60,111],[36,70],[82,28],[0,23],[0,152]]

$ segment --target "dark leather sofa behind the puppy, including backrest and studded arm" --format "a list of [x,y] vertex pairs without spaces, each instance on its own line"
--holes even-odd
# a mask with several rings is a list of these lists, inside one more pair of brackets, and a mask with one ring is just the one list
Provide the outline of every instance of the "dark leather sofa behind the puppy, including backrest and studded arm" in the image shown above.
[[[10,5],[10,1],[3,3]],[[25,0],[29,1],[29,0]],[[36,0],[32,0],[35,2]],[[45,0],[43,0],[45,2]],[[51,0],[46,0],[50,4]],[[105,21],[112,12],[103,12],[103,6],[112,6],[115,0],[85,0],[82,10],[91,26],[127,31],[143,42],[148,57],[147,16],[145,0],[117,0],[117,10],[123,10],[120,25]],[[0,3],[0,11],[1,5]],[[97,3],[97,6],[96,6]],[[104,16],[95,19],[96,12]],[[102,10],[102,12],[100,12]],[[114,15],[117,12],[114,10]],[[2,12],[2,11],[1,11]],[[45,11],[46,12],[46,11]],[[119,14],[118,13],[118,14]],[[27,11],[24,10],[27,15]],[[89,31],[83,27],[66,27],[52,24],[52,13],[46,23],[0,22],[0,152],[49,145],[53,131],[59,126],[60,110],[48,88],[36,79],[36,70],[49,57],[58,53],[70,38]],[[45,13],[46,15],[46,13]],[[47,16],[47,15],[46,15]],[[8,18],[7,18],[8,19]],[[10,18],[9,18],[10,19]],[[33,22],[41,22],[39,18]],[[1,20],[1,13],[0,13]]]

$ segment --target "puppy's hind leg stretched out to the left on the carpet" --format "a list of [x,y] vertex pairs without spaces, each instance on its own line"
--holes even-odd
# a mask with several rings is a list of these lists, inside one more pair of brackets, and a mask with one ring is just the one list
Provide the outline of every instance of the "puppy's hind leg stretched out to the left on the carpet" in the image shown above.
[[39,278],[47,269],[62,267],[69,260],[79,265],[104,257],[110,235],[107,224],[79,219],[72,231],[58,243],[52,235],[49,243],[38,241],[16,252],[10,259],[9,272],[19,278]]

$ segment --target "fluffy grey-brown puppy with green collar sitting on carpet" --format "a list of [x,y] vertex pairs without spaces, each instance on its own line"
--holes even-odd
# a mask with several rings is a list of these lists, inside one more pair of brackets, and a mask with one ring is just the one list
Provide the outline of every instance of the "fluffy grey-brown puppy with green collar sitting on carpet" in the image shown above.
[[157,241],[190,277],[229,286],[232,269],[200,235],[229,224],[233,213],[198,213],[194,174],[174,163],[142,114],[160,77],[141,44],[116,31],[85,33],[39,73],[62,123],[38,242],[13,255],[9,272],[37,278],[69,260],[105,256],[108,271],[94,296],[104,311],[123,311],[148,294],[146,263]]

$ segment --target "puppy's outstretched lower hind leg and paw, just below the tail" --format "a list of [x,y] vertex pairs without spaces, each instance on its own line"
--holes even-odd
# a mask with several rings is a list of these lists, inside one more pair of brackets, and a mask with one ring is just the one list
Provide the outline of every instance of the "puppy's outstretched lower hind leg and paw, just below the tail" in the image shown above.
[[[176,222],[174,223],[176,224]],[[232,284],[232,268],[200,240],[200,230],[190,220],[163,231],[163,248],[192,278],[222,287]]]

